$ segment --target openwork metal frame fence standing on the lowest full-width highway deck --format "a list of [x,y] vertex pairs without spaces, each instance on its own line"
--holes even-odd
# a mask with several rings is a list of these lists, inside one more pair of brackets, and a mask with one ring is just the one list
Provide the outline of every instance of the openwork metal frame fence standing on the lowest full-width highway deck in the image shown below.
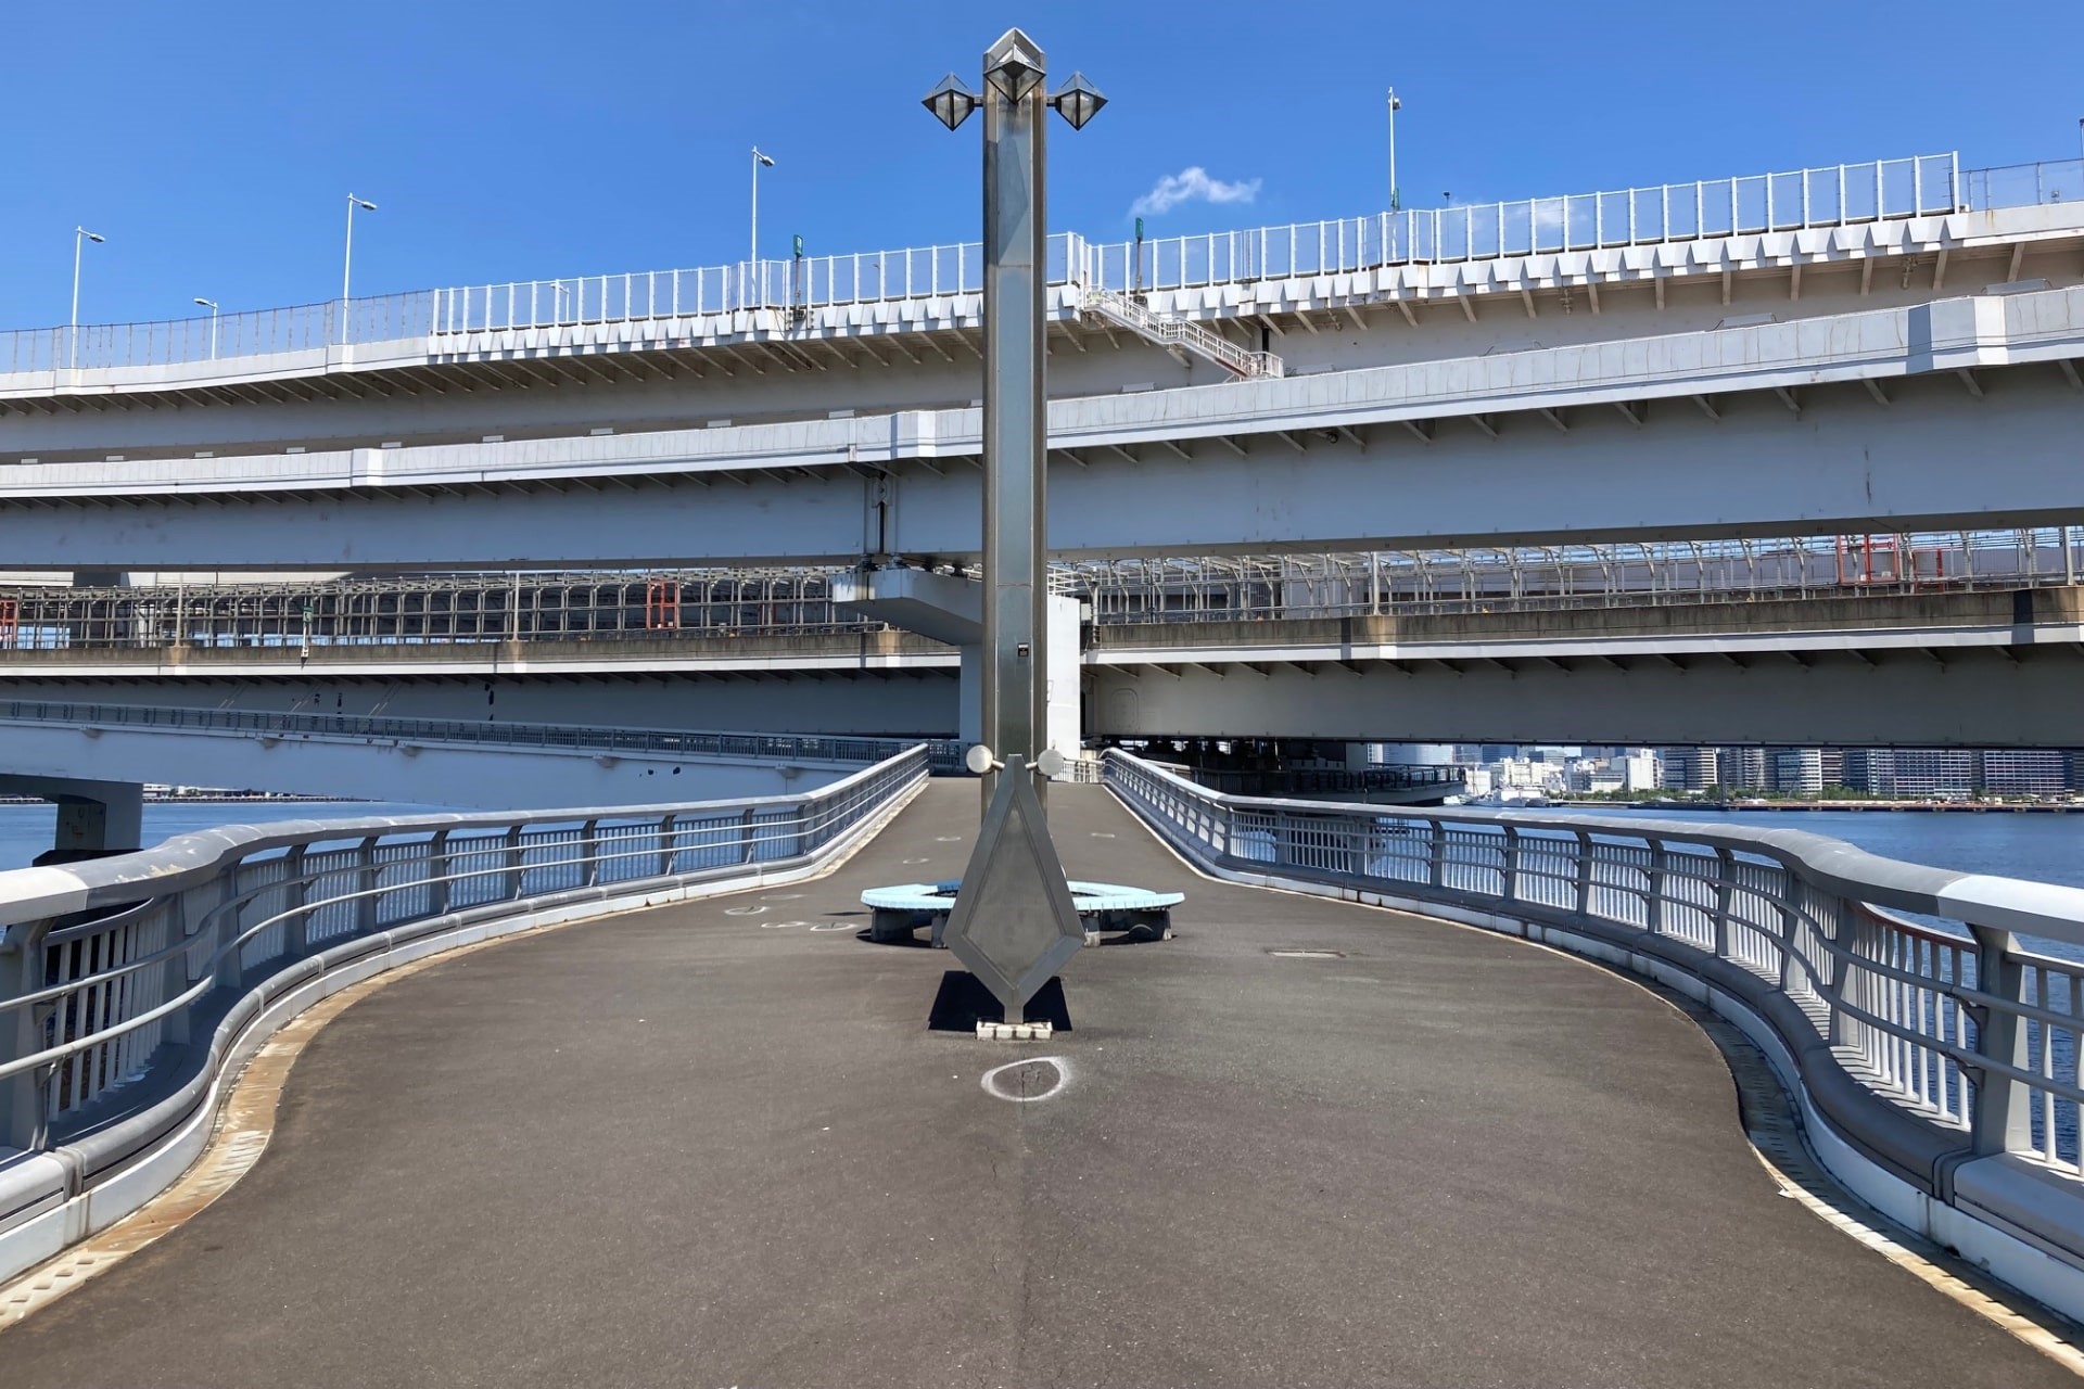
[[[1050,564],[1100,627],[1448,616],[2063,587],[2084,531],[1915,531]],[[829,571],[488,573],[311,583],[0,585],[0,652],[644,643],[890,631]]]

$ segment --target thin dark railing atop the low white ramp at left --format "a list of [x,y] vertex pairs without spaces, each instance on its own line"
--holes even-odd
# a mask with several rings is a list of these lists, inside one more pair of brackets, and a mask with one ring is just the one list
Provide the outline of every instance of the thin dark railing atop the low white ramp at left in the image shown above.
[[65,723],[181,733],[260,733],[290,737],[356,737],[411,743],[546,748],[559,752],[623,752],[690,758],[759,758],[765,762],[877,762],[921,746],[934,771],[954,773],[963,748],[950,739],[813,737],[796,733],[717,733],[696,729],[600,729],[556,723],[494,723],[467,718],[392,718],[386,714],[298,714],[235,708],[171,708],[146,704],[71,704],[58,700],[0,702],[0,721]]

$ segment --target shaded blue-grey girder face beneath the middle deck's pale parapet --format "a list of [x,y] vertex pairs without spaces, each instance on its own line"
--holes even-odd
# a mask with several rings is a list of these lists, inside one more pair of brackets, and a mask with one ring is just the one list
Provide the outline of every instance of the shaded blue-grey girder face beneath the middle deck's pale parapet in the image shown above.
[[[1286,431],[1236,448],[1109,448],[1055,469],[1061,556],[1436,548],[2084,516],[2084,392],[2051,367],[1942,373],[1555,419]],[[1788,408],[1788,400],[1796,408]],[[1676,464],[1673,460],[1684,460]],[[609,479],[604,479],[609,481]],[[559,483],[567,485],[567,483]],[[0,546],[35,569],[521,569],[961,558],[977,546],[967,466],[850,469],[569,491],[442,483],[298,496],[88,500],[0,494]]]

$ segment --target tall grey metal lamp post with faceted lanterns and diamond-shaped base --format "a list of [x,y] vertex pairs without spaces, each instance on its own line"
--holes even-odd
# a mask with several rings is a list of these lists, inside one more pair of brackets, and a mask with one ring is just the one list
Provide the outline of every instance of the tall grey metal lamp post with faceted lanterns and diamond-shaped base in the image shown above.
[[1082,129],[1107,98],[1073,73],[1044,96],[1046,60],[1019,29],[984,54],[984,94],[954,73],[925,96],[950,131],[984,108],[984,827],[944,939],[1019,1025],[1077,954],[1036,773],[1061,766],[1048,737],[1048,414],[1044,394],[1044,106]]

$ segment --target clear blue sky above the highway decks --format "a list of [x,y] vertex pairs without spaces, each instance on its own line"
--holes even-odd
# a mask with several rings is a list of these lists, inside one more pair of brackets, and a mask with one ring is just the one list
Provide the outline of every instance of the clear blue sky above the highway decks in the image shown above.
[[[1050,131],[1050,223],[1150,235],[1959,148],[2078,156],[2084,4],[1394,0],[13,0],[0,327],[977,235],[977,131],[919,98],[1021,23],[1111,106]],[[1796,17],[1798,15],[1798,17]],[[1236,190],[1232,190],[1236,192]]]

